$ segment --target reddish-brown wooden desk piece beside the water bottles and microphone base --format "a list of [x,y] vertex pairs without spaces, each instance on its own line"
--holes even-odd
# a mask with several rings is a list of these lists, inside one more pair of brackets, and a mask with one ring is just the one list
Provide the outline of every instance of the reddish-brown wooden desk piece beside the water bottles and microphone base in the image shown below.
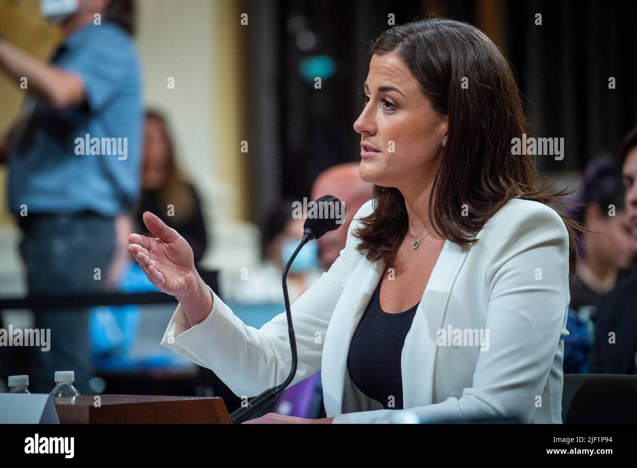
[[61,423],[232,423],[219,397],[85,395],[54,403]]

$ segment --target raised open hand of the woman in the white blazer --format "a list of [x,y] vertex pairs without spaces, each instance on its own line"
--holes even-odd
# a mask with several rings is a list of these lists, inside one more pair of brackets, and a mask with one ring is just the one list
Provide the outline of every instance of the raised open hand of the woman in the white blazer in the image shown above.
[[212,296],[197,273],[192,248],[175,229],[150,211],[145,211],[143,220],[157,238],[131,234],[128,251],[157,289],[174,295],[182,303],[190,325],[194,326],[210,314]]

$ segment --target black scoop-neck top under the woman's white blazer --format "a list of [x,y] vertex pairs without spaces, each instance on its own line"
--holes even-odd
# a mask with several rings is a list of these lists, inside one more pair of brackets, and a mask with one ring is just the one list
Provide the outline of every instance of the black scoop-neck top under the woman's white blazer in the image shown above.
[[[380,283],[352,336],[347,370],[354,385],[385,409],[403,409],[401,354],[420,302],[399,313],[380,308]],[[388,406],[394,396],[394,406]]]

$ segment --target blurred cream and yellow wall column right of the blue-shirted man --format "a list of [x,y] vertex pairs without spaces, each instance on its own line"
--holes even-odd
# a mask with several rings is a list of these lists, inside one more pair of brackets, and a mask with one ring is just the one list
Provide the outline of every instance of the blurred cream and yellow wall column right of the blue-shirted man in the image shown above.
[[[146,102],[167,111],[182,169],[214,201],[211,215],[234,220],[243,217],[247,203],[237,4],[141,1],[137,37]],[[169,77],[175,89],[168,89]]]

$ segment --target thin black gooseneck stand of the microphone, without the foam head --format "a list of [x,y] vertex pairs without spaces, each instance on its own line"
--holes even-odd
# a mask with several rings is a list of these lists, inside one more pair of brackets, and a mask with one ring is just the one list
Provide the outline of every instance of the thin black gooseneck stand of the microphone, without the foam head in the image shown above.
[[268,390],[263,392],[261,395],[254,397],[251,401],[248,402],[248,406],[246,406],[245,408],[239,408],[233,411],[230,417],[232,418],[234,424],[239,424],[244,422],[245,420],[250,419],[250,417],[261,411],[261,409],[275,402],[276,399],[281,396],[283,390],[285,390],[285,388],[290,385],[292,379],[294,379],[298,358],[296,353],[296,338],[294,337],[294,328],[292,327],[292,311],[290,310],[290,298],[287,294],[287,272],[290,269],[292,262],[294,262],[294,259],[296,259],[297,253],[301,252],[301,249],[304,245],[306,245],[306,243],[308,243],[308,241],[311,241],[311,239],[315,238],[316,235],[314,234],[313,230],[311,230],[310,228],[306,228],[303,234],[303,239],[301,239],[301,243],[299,243],[299,246],[297,246],[296,250],[294,250],[294,253],[292,253],[292,257],[290,257],[290,260],[288,260],[285,268],[283,268],[283,300],[285,301],[287,330],[290,337],[290,350],[292,351],[292,368],[290,369],[290,374],[287,376],[287,379],[285,379],[282,384],[273,386],[272,388],[269,388]]

